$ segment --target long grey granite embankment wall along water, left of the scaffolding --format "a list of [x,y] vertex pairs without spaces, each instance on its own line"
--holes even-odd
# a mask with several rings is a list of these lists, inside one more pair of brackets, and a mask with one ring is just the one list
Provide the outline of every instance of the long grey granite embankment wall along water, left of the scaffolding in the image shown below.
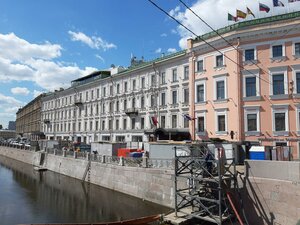
[[[41,153],[0,146],[0,155],[32,165],[39,165]],[[44,167],[82,179],[88,161],[47,154]],[[125,167],[91,162],[90,182],[163,206],[174,206],[173,170]]]

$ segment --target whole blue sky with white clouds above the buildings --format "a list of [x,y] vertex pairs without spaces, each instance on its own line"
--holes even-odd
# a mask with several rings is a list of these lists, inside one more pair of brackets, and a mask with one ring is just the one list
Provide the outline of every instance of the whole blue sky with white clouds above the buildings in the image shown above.
[[[178,0],[153,0],[197,34],[209,28]],[[185,0],[214,28],[233,22],[227,13],[251,8],[256,17],[297,11],[300,2],[258,12],[255,0]],[[216,19],[218,18],[218,19]],[[253,19],[251,16],[248,19]],[[185,48],[191,34],[147,0],[0,0],[0,124],[41,92],[111,64],[127,67]]]

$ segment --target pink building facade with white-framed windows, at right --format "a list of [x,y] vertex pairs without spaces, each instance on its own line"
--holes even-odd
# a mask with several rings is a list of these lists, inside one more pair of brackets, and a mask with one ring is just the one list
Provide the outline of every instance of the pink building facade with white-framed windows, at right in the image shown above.
[[190,132],[300,155],[300,12],[188,41]]

